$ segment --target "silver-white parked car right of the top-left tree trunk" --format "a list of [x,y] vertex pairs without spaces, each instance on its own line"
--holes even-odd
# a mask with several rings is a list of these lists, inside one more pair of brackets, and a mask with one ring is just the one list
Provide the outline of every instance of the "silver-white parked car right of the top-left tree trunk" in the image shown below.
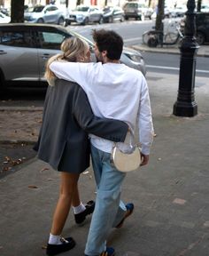
[[24,12],[24,20],[30,23],[55,23],[63,25],[65,22],[65,13],[53,4],[35,5],[27,8]]

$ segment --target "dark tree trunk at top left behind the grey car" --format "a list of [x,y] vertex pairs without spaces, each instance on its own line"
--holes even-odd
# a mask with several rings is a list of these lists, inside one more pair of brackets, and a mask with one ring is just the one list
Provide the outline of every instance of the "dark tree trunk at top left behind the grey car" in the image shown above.
[[25,0],[11,0],[11,22],[24,22]]

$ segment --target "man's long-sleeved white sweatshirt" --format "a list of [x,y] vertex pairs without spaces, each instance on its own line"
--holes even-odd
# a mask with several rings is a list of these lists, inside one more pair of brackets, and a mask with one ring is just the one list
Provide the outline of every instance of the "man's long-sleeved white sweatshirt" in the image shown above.
[[[95,116],[124,121],[132,132],[135,132],[138,122],[142,152],[145,155],[150,154],[153,140],[151,103],[146,80],[140,71],[110,62],[102,64],[59,61],[52,62],[50,70],[58,78],[81,85],[87,93]],[[111,153],[112,141],[92,134],[90,138],[96,148]]]

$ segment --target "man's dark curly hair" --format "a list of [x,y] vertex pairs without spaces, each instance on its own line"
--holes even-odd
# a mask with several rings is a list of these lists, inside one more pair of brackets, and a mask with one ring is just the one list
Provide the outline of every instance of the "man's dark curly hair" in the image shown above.
[[123,49],[123,39],[116,32],[105,29],[93,29],[92,37],[99,52],[106,51],[110,60],[120,60]]

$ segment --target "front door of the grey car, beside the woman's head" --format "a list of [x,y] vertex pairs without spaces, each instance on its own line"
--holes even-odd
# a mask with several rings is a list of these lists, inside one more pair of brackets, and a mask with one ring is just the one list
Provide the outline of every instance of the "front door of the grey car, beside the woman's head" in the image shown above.
[[62,42],[71,35],[66,34],[57,29],[48,30],[47,28],[39,28],[36,30],[37,39],[39,41],[38,62],[39,74],[41,82],[46,81],[44,78],[45,65],[51,56],[58,54]]

